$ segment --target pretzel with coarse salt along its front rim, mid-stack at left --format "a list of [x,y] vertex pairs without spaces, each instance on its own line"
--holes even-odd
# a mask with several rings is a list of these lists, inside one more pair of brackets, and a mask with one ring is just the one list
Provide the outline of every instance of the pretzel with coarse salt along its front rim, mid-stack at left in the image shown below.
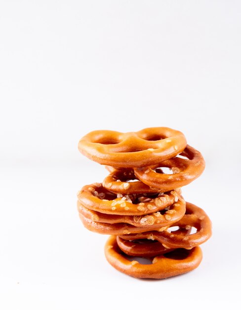
[[[129,183],[124,183],[124,186]],[[159,194],[148,202],[133,204],[129,196],[117,197],[106,190],[101,183],[85,185],[77,194],[80,203],[88,209],[106,214],[142,215],[160,211],[178,201],[180,191],[171,191]],[[118,195],[120,196],[120,195]],[[148,197],[147,197],[148,198]]]

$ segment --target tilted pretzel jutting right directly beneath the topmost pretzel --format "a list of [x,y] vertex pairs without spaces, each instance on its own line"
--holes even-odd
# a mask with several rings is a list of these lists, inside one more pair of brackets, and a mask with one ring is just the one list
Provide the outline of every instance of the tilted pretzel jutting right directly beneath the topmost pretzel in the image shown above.
[[[143,183],[159,188],[162,192],[180,188],[197,179],[205,167],[201,153],[190,146],[180,155],[188,159],[174,157],[153,166],[134,168],[134,173]],[[173,174],[156,172],[155,169],[159,166],[170,168]]]

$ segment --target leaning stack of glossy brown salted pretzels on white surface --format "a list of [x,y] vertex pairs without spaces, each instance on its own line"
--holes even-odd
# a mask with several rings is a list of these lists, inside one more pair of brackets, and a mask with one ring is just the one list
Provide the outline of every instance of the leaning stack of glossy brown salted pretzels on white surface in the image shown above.
[[200,207],[185,202],[181,187],[201,175],[205,162],[180,131],[97,130],[80,139],[79,150],[110,172],[103,183],[78,192],[78,210],[87,229],[111,235],[105,256],[113,267],[154,279],[198,267],[199,245],[211,236],[211,221]]

